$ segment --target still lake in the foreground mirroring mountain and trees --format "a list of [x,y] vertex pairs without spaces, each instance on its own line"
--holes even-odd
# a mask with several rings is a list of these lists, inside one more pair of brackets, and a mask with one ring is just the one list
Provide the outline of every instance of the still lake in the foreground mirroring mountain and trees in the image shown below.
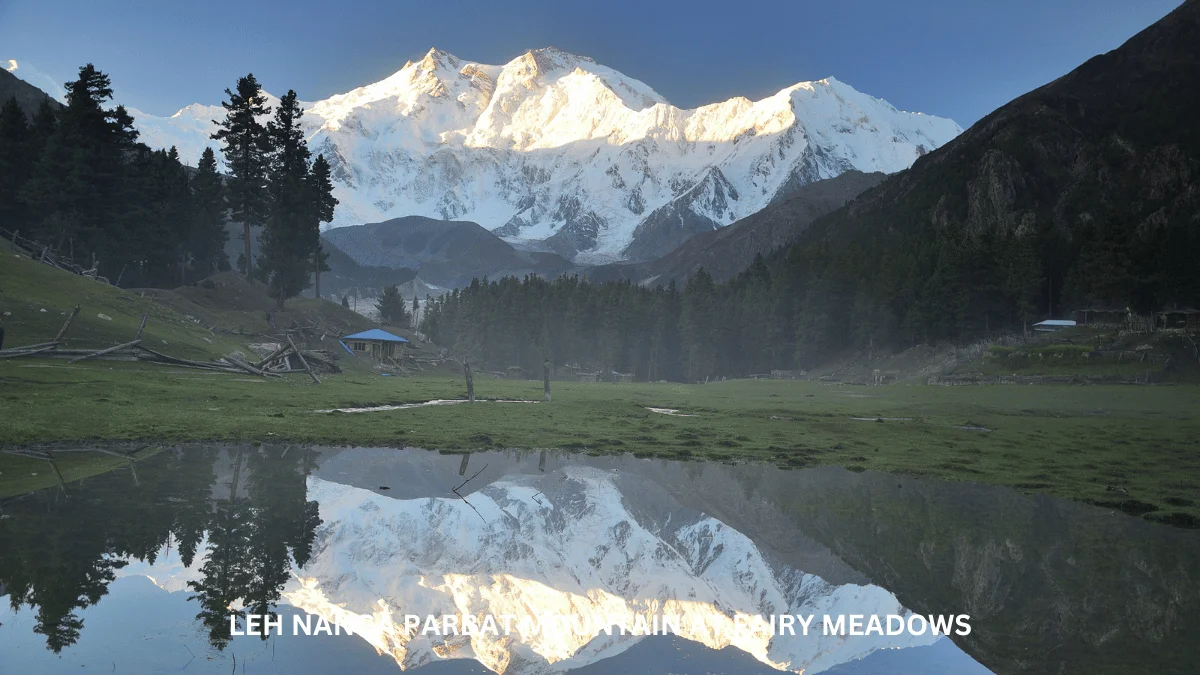
[[[102,468],[74,479],[84,456]],[[0,455],[2,674],[1200,663],[1200,532],[1006,488],[526,450],[54,458]],[[274,615],[282,635],[239,634],[245,615]],[[970,632],[926,626],[952,615]],[[492,628],[463,634],[464,616]]]

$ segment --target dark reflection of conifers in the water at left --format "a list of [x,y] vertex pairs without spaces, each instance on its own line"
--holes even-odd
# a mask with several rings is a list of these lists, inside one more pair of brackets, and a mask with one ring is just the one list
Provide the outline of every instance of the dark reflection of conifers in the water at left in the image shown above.
[[[228,495],[216,484],[224,462]],[[305,498],[313,468],[308,450],[188,449],[138,462],[138,484],[114,471],[13,500],[0,520],[0,586],[13,610],[36,608],[35,631],[59,652],[79,639],[77,611],[100,602],[125,558],[154,563],[174,544],[191,567],[208,533],[202,578],[188,586],[197,619],[223,647],[229,605],[241,599],[245,611],[266,614],[290,561],[307,563],[320,524],[317,503]]]

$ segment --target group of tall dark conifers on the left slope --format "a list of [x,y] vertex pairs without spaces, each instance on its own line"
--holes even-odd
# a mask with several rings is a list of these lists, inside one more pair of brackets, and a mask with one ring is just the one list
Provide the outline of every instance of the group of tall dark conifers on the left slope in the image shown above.
[[[242,225],[239,268],[266,282],[280,305],[329,269],[320,223],[330,222],[330,166],[312,159],[304,110],[288,91],[272,113],[253,74],[226,90],[228,174],[205,148],[197,167],[175,148],[138,142],[133,118],[112,106],[107,74],[88,64],[66,83],[66,104],[44,100],[26,117],[0,107],[0,227],[66,253],[120,286],[173,287],[229,269],[227,222]],[[263,227],[252,250],[251,228]]]

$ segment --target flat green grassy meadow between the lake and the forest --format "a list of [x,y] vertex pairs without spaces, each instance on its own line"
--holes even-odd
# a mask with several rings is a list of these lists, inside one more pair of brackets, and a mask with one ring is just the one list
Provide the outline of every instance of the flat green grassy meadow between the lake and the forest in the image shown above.
[[[317,386],[301,375],[269,381],[151,364],[16,359],[0,362],[0,444],[257,440],[832,464],[1012,485],[1180,525],[1200,521],[1198,387],[556,382],[550,404],[313,412],[463,394],[460,378],[359,369]],[[476,396],[536,400],[541,383],[478,377]]]

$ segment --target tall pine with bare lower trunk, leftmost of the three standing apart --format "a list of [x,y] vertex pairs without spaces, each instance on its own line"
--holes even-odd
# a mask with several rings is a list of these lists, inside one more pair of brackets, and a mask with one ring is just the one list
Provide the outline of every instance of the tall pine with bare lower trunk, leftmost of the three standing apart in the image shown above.
[[[227,202],[230,216],[242,226],[242,267],[250,281],[254,256],[251,250],[251,228],[266,222],[266,169],[270,138],[258,118],[270,114],[266,96],[254,74],[238,79],[238,91],[226,89],[228,101],[221,106],[226,119],[216,123],[220,129],[212,139],[221,141],[226,165],[229,167]],[[214,120],[216,121],[216,120]]]

